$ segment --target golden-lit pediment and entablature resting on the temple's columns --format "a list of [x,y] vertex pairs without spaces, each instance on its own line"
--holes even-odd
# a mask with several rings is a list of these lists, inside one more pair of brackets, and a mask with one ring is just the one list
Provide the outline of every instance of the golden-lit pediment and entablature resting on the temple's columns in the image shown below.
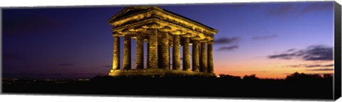
[[201,35],[199,39],[211,38],[217,30],[193,21],[185,16],[172,13],[157,6],[126,7],[108,21],[113,26],[113,32],[122,35],[157,28],[175,35]]

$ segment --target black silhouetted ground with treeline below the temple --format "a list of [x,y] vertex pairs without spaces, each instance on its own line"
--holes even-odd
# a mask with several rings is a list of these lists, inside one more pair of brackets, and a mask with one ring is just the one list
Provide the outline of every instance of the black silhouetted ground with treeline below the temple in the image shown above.
[[95,77],[89,81],[4,79],[3,93],[331,100],[333,80],[234,77]]

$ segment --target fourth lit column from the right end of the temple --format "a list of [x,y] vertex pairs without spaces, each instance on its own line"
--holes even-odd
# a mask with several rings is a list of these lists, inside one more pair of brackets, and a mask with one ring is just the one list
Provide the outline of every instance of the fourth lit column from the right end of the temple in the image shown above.
[[183,38],[183,70],[190,71],[190,39]]

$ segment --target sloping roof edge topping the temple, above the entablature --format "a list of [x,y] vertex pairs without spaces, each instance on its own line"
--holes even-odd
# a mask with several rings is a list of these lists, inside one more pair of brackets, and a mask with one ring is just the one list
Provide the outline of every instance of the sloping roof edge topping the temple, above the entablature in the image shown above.
[[215,30],[214,28],[211,28],[211,27],[206,26],[206,25],[204,25],[202,23],[194,21],[194,20],[192,20],[190,18],[187,18],[185,16],[180,16],[177,13],[173,13],[171,11],[167,11],[166,9],[163,9],[163,8],[160,8],[160,7],[157,7],[157,6],[129,6],[129,7],[126,7],[122,11],[120,11],[119,13],[115,14],[115,16],[110,18],[108,20],[108,23],[113,23],[115,21],[120,21],[123,18],[130,17],[130,16],[133,16],[133,15],[138,14],[138,13],[144,13],[144,12],[147,12],[147,11],[152,11],[152,10],[157,10],[157,11],[169,13],[171,16],[175,16],[177,18],[182,18],[185,21],[190,21],[190,22],[192,22],[192,23],[194,23],[194,24],[196,24],[198,26],[203,26],[204,28],[207,28],[208,30],[213,30],[213,31],[217,32],[217,30]]

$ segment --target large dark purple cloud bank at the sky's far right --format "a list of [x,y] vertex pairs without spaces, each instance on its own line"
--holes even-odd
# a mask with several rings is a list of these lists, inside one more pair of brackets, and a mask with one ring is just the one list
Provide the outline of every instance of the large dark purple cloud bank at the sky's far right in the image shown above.
[[[292,49],[291,49],[292,50]],[[333,47],[324,45],[311,45],[304,50],[291,51],[287,50],[278,55],[269,55],[269,59],[291,60],[301,58],[306,61],[331,61],[333,60]]]

